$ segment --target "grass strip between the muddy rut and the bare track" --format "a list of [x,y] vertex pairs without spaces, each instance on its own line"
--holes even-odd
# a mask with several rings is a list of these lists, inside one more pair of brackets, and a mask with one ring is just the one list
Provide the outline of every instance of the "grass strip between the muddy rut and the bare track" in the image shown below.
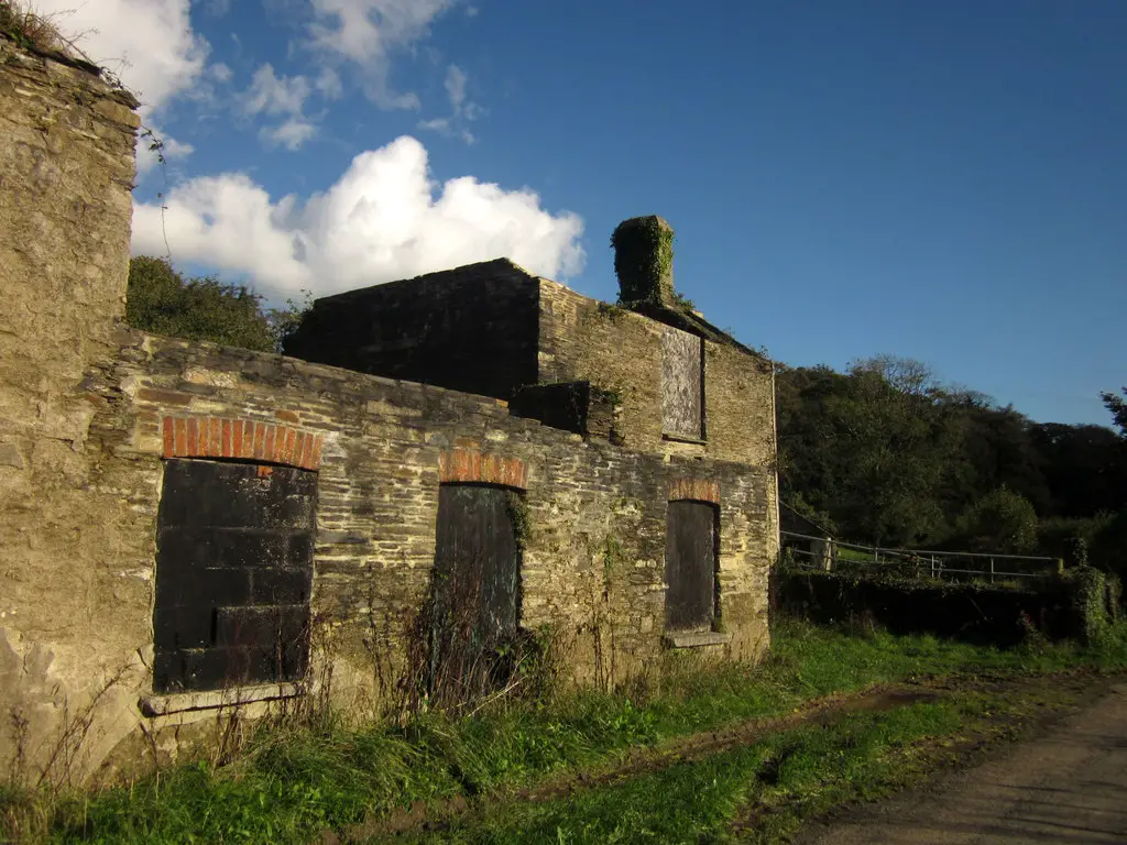
[[919,783],[952,747],[1011,736],[1071,703],[1056,684],[1023,693],[961,692],[851,714],[567,800],[494,804],[481,816],[397,842],[786,842],[808,818]]

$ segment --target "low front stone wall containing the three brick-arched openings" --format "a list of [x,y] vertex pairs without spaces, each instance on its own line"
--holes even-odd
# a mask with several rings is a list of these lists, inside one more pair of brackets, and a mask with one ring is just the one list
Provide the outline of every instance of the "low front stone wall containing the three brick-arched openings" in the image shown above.
[[[577,681],[622,681],[663,648],[666,509],[686,491],[719,500],[720,614],[730,653],[755,659],[766,647],[773,477],[764,470],[584,441],[513,417],[486,397],[140,333],[89,386],[104,409],[92,427],[103,483],[131,504],[130,524],[117,532],[144,539],[110,555],[122,594],[135,598],[103,611],[107,659],[121,637],[134,638],[133,650],[151,649],[162,459],[193,453],[193,432],[195,454],[234,456],[237,430],[247,459],[310,465],[312,452],[295,444],[320,444],[314,643],[331,660],[347,706],[379,701],[410,669],[407,637],[434,562],[444,480],[523,491],[521,623],[549,628]],[[151,676],[134,684],[134,696],[150,695]],[[124,739],[131,720],[148,719],[149,730],[186,721],[160,715],[159,702],[148,706],[158,715],[131,706],[107,724]]]

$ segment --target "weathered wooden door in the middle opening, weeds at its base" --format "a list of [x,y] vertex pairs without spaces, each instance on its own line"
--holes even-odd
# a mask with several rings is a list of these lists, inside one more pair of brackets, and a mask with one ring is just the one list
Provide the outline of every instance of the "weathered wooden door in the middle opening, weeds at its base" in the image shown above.
[[427,690],[461,701],[504,681],[520,619],[521,554],[513,490],[443,484],[429,613]]

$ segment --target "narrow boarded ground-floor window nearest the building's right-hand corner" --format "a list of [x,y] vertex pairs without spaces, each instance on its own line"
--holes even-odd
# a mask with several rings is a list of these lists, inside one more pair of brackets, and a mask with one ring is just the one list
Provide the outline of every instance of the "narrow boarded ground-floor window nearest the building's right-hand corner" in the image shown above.
[[671,501],[665,534],[665,625],[708,630],[716,617],[718,508],[704,501]]

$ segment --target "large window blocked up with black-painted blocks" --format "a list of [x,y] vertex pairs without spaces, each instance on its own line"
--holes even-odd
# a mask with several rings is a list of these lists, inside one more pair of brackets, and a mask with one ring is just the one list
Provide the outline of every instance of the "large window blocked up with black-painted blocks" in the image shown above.
[[305,671],[317,473],[172,460],[157,528],[158,693]]

